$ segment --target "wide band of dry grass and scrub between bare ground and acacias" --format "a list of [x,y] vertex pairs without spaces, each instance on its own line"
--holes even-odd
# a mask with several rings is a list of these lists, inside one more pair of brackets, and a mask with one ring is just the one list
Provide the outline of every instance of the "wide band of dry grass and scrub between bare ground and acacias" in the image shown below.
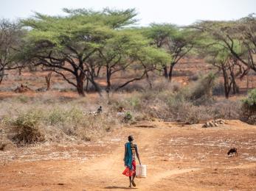
[[[4,98],[0,101],[1,126],[7,132],[5,137],[24,145],[97,140],[120,123],[137,120],[199,123],[215,118],[239,119],[240,101],[215,100],[214,83],[207,85],[211,77],[202,77],[187,87],[156,79],[151,82],[152,89],[144,84],[144,90],[102,96],[94,93],[85,98],[51,92]],[[91,115],[99,106],[103,113]]]

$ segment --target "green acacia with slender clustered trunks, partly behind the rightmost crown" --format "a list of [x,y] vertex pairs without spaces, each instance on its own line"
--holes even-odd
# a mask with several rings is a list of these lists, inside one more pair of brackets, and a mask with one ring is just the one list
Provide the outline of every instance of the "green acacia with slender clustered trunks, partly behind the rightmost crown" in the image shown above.
[[[229,98],[229,93],[239,93],[239,87],[236,83],[238,77],[242,78],[246,73],[246,68],[234,55],[225,47],[225,43],[217,40],[209,33],[200,32],[200,41],[198,41],[198,54],[205,57],[208,63],[218,68],[224,79],[224,90],[226,98]],[[243,47],[236,42],[233,49],[238,54],[243,54]]]

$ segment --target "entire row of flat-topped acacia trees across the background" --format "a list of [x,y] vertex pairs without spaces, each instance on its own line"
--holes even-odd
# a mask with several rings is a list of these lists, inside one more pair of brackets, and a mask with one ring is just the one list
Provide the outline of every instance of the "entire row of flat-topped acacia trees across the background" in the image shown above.
[[[163,71],[170,82],[175,65],[197,53],[222,72],[226,93],[231,89],[236,93],[235,79],[242,79],[249,70],[256,71],[253,14],[236,21],[198,21],[186,27],[136,27],[134,9],[65,8],[63,12],[66,15],[35,12],[17,24],[0,22],[0,82],[4,70],[32,64],[58,73],[80,95],[85,95],[89,83],[98,93],[103,87],[109,93],[144,78],[151,84],[153,71]],[[133,68],[139,72],[131,79],[112,84],[115,73]],[[101,70],[106,85],[98,84]]]

